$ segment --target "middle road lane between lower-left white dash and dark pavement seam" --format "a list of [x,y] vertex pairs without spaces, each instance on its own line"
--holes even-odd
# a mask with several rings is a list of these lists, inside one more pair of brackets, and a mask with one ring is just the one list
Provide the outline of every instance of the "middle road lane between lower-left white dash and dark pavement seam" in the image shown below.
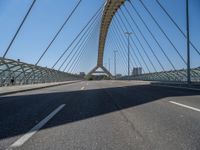
[[81,91],[45,130],[20,149],[34,149],[35,143],[37,149],[143,149],[145,141],[117,111],[107,93],[96,83],[87,88],[96,90]]

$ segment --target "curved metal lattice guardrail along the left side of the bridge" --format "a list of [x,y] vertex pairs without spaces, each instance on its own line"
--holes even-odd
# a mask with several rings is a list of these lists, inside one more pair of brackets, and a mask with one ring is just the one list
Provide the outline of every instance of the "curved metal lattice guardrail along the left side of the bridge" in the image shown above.
[[81,77],[0,57],[0,86],[80,80]]

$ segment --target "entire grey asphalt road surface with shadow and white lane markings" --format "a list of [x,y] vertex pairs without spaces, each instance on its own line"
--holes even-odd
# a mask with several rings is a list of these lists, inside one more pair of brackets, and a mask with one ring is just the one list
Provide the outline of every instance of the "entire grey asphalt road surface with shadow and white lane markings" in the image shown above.
[[2,96],[0,149],[200,150],[200,91],[83,81]]

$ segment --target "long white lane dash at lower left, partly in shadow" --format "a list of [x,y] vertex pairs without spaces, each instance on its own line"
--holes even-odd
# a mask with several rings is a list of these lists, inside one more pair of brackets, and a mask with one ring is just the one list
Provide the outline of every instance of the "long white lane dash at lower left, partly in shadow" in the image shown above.
[[52,113],[50,113],[46,118],[40,121],[36,126],[34,126],[28,133],[19,138],[16,142],[14,142],[10,148],[20,147],[22,146],[28,139],[30,139],[34,134],[38,132],[50,119],[52,119],[63,107],[65,104],[57,107]]

